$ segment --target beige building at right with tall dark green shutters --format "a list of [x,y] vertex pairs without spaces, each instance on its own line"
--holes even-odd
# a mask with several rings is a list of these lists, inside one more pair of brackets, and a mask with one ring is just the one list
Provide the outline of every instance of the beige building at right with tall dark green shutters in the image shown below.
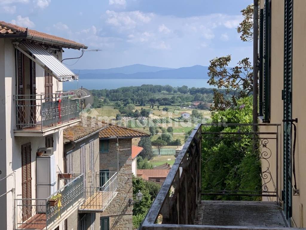
[[272,155],[279,201],[286,220],[298,228],[306,227],[305,9],[304,0],[260,1],[259,123],[280,124],[278,158]]

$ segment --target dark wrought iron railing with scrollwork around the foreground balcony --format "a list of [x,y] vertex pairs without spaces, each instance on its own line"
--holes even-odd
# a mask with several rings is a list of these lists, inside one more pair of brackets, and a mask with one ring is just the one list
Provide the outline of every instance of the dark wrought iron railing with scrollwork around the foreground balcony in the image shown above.
[[[252,132],[253,125],[199,124],[194,128],[140,229],[221,229],[222,226],[195,224],[198,206],[205,199],[267,197],[277,201],[280,125],[256,124],[272,126],[267,129],[273,131]],[[245,156],[251,158],[254,171],[244,168],[242,159]],[[235,177],[239,170],[242,173],[238,184],[252,177],[259,186],[252,185],[253,189],[244,190],[244,187],[228,186],[227,178],[218,178],[225,172]]]

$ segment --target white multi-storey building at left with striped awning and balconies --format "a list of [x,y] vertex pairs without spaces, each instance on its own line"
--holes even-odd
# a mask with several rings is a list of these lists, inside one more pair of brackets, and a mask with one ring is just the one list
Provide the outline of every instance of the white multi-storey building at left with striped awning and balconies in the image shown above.
[[[83,44],[0,21],[0,223],[2,229],[65,229],[84,202],[83,174],[65,179],[63,130],[79,121],[79,103],[61,63]],[[69,229],[70,230],[70,229]]]

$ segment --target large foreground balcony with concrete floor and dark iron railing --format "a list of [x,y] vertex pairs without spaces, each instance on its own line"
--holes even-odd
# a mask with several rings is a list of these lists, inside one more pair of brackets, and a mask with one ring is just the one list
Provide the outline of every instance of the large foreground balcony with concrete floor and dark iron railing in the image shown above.
[[252,132],[250,124],[198,125],[140,229],[293,229],[279,199],[280,125],[258,126],[269,132]]

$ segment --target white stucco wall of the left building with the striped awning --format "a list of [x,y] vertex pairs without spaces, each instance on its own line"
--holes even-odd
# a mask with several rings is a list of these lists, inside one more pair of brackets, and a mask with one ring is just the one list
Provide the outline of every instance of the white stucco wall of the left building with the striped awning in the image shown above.
[[[62,54],[60,53],[60,58]],[[32,198],[35,194],[35,160],[38,148],[45,147],[45,137],[15,137],[14,127],[16,122],[16,108],[13,101],[13,95],[16,94],[16,67],[15,67],[15,48],[10,39],[0,39],[0,144],[1,144],[1,161],[0,161],[0,179],[16,171],[15,197],[21,198],[21,145],[31,142],[31,176],[32,176]],[[28,62],[25,62],[25,71],[28,71]],[[28,77],[28,75],[25,75]],[[28,83],[28,80],[25,80]],[[25,89],[27,85],[25,85]],[[62,90],[62,82],[53,78],[53,91]],[[36,93],[44,92],[44,70],[36,65]],[[63,133],[62,129],[54,132],[54,155],[56,162],[56,171],[58,167],[64,171],[63,162]],[[12,177],[0,181],[0,191],[3,194],[14,187]],[[56,185],[59,186],[59,185]],[[0,194],[0,195],[1,195]],[[0,222],[6,225],[7,229],[13,229],[13,199],[14,194],[9,193],[0,197]],[[19,215],[18,215],[19,216]]]

